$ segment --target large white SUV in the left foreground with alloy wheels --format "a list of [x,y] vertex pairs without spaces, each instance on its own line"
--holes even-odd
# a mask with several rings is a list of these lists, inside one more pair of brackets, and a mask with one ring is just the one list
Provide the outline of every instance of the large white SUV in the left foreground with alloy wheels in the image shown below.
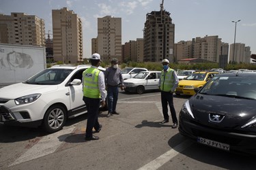
[[89,67],[56,65],[25,82],[0,88],[0,123],[42,125],[48,132],[59,131],[67,118],[87,112],[81,81],[83,71]]

